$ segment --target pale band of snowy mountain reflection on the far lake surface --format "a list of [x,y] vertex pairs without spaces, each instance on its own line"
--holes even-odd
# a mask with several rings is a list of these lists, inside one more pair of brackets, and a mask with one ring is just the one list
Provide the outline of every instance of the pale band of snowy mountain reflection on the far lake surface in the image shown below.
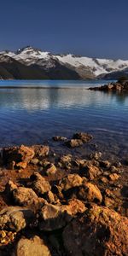
[[1,89],[0,107],[26,110],[46,108],[128,107],[127,93],[85,89]]

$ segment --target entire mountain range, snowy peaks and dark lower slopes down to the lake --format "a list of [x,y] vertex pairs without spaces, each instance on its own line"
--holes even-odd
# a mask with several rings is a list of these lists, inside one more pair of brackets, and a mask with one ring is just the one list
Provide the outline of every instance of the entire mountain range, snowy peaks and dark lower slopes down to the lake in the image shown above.
[[55,55],[26,46],[0,52],[0,79],[119,79],[128,61]]

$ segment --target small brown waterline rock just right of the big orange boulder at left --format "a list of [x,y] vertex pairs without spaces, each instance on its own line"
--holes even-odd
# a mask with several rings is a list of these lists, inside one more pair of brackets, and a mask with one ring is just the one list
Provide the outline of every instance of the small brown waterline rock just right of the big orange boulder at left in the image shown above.
[[49,154],[49,146],[44,146],[44,145],[34,145],[32,146],[35,155],[38,157],[44,157]]

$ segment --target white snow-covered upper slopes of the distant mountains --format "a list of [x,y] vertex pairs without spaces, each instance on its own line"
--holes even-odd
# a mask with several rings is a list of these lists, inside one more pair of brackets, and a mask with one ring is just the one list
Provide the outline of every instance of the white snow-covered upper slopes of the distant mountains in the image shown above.
[[102,74],[121,71],[128,67],[128,61],[89,58],[71,54],[53,55],[48,51],[32,48],[32,46],[18,49],[15,53],[3,51],[0,54],[8,55],[26,66],[38,65],[38,67],[42,67],[44,70],[55,68],[57,63],[59,63],[59,65],[79,73],[79,76],[83,79],[86,77],[96,78]]

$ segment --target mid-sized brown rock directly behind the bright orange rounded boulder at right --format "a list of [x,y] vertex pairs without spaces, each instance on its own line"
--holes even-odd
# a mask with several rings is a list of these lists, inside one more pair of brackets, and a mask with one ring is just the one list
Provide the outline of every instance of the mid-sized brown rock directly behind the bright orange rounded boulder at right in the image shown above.
[[98,167],[93,166],[92,164],[90,164],[88,162],[84,166],[79,167],[79,172],[81,175],[89,178],[90,180],[93,180],[102,174],[102,172],[100,171],[100,169]]

